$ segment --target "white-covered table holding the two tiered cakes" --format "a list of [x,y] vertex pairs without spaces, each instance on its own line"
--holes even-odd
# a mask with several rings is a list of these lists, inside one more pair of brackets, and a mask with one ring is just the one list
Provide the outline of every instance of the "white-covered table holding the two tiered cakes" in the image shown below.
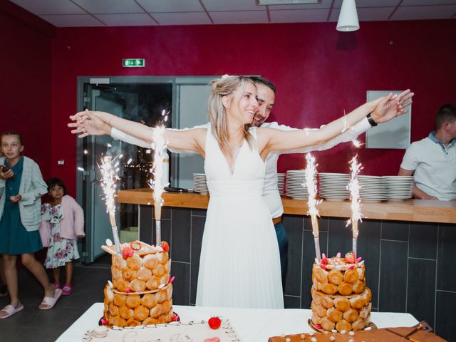
[[[231,309],[201,306],[173,306],[180,321],[207,321],[211,316],[228,318],[242,342],[268,341],[271,336],[281,334],[308,333],[309,309]],[[74,322],[57,342],[81,342],[83,334],[95,328],[103,316],[103,303],[95,303]],[[414,326],[418,321],[410,314],[373,312],[371,321],[378,328]]]

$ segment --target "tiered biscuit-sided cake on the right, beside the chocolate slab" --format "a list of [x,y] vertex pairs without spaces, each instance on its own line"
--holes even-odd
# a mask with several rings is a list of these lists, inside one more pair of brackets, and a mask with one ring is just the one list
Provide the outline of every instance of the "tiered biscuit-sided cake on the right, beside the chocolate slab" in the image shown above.
[[364,261],[352,252],[315,262],[312,269],[312,323],[323,331],[358,331],[371,317],[371,290]]

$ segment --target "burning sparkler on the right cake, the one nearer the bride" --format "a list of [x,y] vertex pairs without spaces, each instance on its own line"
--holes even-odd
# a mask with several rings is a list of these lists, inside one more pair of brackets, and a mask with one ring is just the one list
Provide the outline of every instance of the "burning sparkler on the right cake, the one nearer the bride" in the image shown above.
[[306,167],[306,185],[307,191],[309,192],[309,201],[307,202],[309,206],[309,212],[307,214],[311,217],[312,222],[312,233],[314,234],[314,244],[315,244],[315,256],[318,262],[321,261],[320,253],[320,234],[318,231],[318,221],[316,217],[318,216],[318,210],[316,209],[319,201],[316,200],[316,182],[314,180],[316,173],[315,157],[310,153],[306,155],[307,167]]

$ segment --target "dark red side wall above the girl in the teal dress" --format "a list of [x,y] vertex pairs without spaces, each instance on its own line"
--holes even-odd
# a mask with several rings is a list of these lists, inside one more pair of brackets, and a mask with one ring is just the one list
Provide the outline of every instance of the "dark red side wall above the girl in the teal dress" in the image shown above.
[[46,179],[51,175],[53,27],[5,1],[0,32],[0,131],[23,135],[24,155],[38,162]]

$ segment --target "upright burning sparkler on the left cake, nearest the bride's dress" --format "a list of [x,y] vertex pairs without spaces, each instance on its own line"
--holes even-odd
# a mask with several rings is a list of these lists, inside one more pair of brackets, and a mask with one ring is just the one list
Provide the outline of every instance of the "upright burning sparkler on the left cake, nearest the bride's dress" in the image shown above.
[[155,211],[155,237],[156,245],[160,246],[162,243],[161,232],[161,218],[162,218],[162,175],[163,175],[163,157],[166,150],[166,142],[163,134],[165,133],[165,126],[157,126],[152,131],[152,140],[154,148],[154,163],[152,167],[153,181],[150,187],[154,190],[154,211]]

